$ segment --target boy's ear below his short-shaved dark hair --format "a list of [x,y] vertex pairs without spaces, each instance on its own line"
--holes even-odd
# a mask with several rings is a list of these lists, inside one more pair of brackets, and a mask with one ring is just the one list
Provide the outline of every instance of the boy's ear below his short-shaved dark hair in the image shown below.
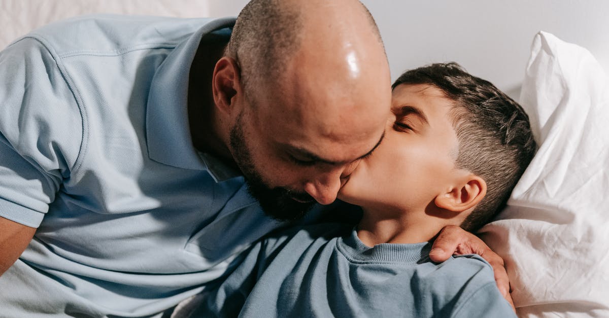
[[434,203],[438,208],[459,213],[475,207],[486,194],[487,183],[481,177],[470,174],[465,182],[435,197]]

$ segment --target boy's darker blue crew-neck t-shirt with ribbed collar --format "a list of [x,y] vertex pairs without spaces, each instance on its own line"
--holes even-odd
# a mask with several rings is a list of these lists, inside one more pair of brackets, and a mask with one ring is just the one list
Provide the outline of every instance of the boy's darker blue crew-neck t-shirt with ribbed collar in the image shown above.
[[433,263],[431,243],[367,247],[351,226],[264,238],[192,317],[516,317],[480,256]]

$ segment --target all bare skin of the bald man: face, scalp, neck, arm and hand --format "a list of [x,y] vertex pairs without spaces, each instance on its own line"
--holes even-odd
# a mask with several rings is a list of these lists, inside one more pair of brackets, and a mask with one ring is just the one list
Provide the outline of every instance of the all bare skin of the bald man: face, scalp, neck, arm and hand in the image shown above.
[[[224,56],[225,43],[200,46],[210,54],[195,57],[191,68],[191,134],[197,149],[239,168],[230,135],[242,116],[244,141],[264,183],[290,190],[299,201],[328,204],[382,139],[390,114],[389,66],[359,2],[284,3],[303,12],[305,36],[280,78],[256,83],[246,94],[238,61]],[[2,218],[0,225],[7,233],[0,233],[4,272],[35,229]],[[499,256],[459,228],[440,233],[435,247],[442,252],[435,260],[446,260],[463,244],[484,250],[493,266],[502,266]],[[501,269],[499,275],[504,273]]]

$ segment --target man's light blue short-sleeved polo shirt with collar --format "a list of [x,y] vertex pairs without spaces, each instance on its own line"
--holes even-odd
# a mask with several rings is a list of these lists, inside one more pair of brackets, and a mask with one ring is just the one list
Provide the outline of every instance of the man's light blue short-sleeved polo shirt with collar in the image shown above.
[[85,16],[0,53],[0,216],[38,227],[0,316],[158,316],[282,225],[192,146],[192,59],[233,24]]

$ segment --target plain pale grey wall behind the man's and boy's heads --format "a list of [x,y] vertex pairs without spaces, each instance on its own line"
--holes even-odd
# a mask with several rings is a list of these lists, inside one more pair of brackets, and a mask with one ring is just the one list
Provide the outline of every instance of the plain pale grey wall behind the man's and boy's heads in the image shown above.
[[[246,0],[208,0],[213,16],[236,15]],[[609,70],[609,1],[363,0],[375,16],[392,71],[459,62],[518,97],[538,31],[589,49]]]

